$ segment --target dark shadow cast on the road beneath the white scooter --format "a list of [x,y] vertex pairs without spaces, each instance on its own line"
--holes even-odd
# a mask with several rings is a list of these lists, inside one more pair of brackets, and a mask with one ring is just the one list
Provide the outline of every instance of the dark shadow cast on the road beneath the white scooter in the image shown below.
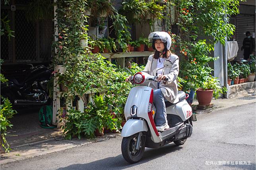
[[73,164],[67,167],[58,168],[58,170],[86,170],[86,169],[97,169],[97,170],[115,170],[115,169],[124,169],[132,166],[136,166],[139,164],[144,164],[150,160],[156,159],[158,157],[163,157],[169,153],[173,153],[179,151],[182,147],[177,147],[175,144],[169,144],[159,149],[145,149],[144,157],[140,162],[136,164],[130,164],[124,160],[122,155],[118,155],[116,157],[109,157],[101,160],[96,160],[94,162],[89,162],[86,164]]

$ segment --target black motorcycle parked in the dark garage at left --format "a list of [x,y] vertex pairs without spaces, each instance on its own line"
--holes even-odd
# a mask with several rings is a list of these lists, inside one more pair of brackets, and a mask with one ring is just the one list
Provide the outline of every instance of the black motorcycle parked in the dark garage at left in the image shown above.
[[9,78],[8,82],[1,83],[1,95],[7,97],[13,105],[45,105],[50,100],[47,93],[47,82],[51,71],[44,65],[37,65],[24,70],[27,76],[18,81]]

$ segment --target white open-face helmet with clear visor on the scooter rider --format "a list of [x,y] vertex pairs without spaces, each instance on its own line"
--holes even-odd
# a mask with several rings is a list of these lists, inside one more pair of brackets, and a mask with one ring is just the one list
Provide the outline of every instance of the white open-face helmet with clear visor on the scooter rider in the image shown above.
[[[170,50],[172,45],[171,36],[167,32],[163,31],[155,31],[149,34],[148,40],[149,42],[153,42],[156,39],[160,39],[165,44],[165,50]],[[152,47],[155,50],[155,43],[152,43]]]

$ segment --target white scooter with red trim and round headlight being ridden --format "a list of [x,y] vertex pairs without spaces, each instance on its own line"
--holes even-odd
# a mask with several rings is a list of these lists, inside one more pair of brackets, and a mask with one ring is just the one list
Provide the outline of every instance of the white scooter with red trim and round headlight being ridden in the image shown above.
[[[164,62],[164,67],[171,68],[171,66],[171,60]],[[150,81],[157,82],[157,78],[139,72],[129,79],[133,84],[140,86],[131,89],[124,108],[127,122],[122,128],[121,149],[127,162],[136,163],[142,159],[145,147],[159,148],[171,142],[183,145],[192,134],[192,121],[196,121],[196,115],[192,114],[192,108],[186,101],[188,95],[182,91],[178,91],[178,103],[165,102],[170,128],[163,132],[157,131],[154,122],[153,89],[149,85],[143,85]]]

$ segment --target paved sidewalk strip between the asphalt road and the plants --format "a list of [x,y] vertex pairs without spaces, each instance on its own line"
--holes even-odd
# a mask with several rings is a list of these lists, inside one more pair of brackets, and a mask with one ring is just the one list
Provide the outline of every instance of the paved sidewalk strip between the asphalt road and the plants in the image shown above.
[[[214,104],[213,108],[207,110],[197,110],[196,114],[200,116],[201,114],[210,113],[211,111],[221,111],[223,109],[245,105],[248,103],[255,105],[255,92],[255,89],[249,89],[239,92],[239,95],[236,95],[230,99],[213,99],[211,101],[211,103]],[[198,104],[198,102],[194,101],[193,104]],[[97,137],[94,139],[74,138],[72,140],[65,140],[62,138],[61,129],[48,129],[42,133],[31,133],[27,135],[15,136],[8,139],[8,143],[10,144],[12,151],[10,151],[10,154],[1,154],[0,164],[45,155],[47,153],[58,152],[72,147],[83,146],[88,143],[116,138],[117,136],[120,136],[120,133],[107,133],[102,137]]]

